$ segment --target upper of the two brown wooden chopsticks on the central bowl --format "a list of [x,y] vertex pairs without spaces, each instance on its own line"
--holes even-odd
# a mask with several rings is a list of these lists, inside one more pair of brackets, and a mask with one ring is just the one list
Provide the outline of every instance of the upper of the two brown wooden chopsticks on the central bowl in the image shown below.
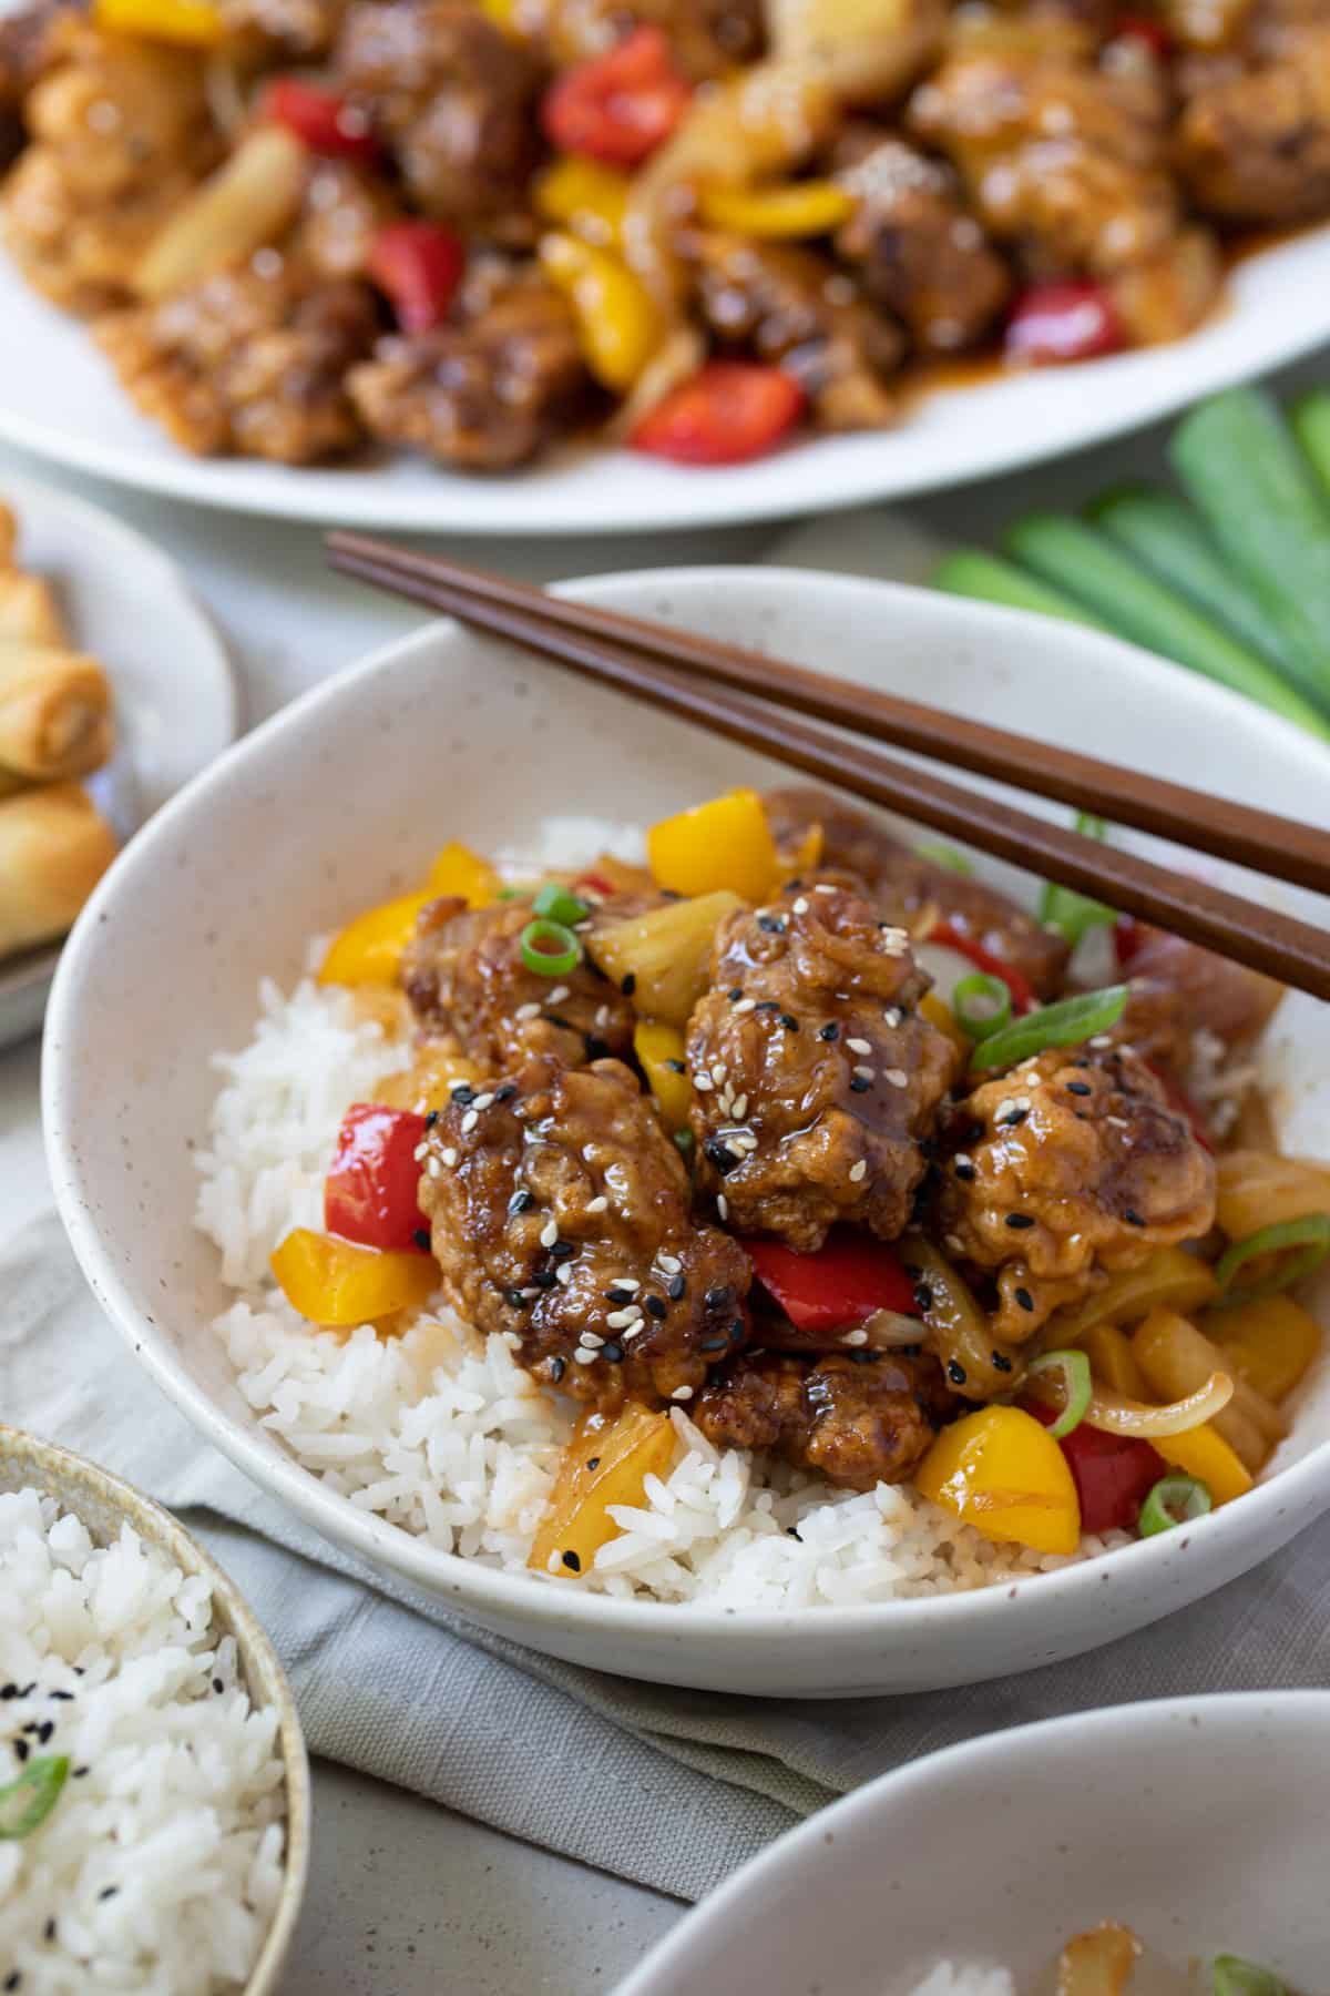
[[1073,748],[1057,748],[830,673],[768,659],[764,653],[724,645],[696,631],[674,631],[642,617],[626,617],[622,611],[550,597],[530,583],[469,569],[443,555],[389,551],[383,541],[359,533],[331,533],[327,545],[333,567],[341,567],[343,555],[375,559],[391,553],[399,575],[451,581],[469,597],[512,609],[534,609],[568,631],[626,643],[662,665],[682,667],[690,675],[740,693],[754,693],[816,721],[830,721],[871,741],[969,768],[977,776],[1051,796],[1115,824],[1133,824],[1157,838],[1170,838],[1194,852],[1208,852],[1236,866],[1250,866],[1330,894],[1330,836],[1296,818],[1206,796],[1180,782],[1101,762]]

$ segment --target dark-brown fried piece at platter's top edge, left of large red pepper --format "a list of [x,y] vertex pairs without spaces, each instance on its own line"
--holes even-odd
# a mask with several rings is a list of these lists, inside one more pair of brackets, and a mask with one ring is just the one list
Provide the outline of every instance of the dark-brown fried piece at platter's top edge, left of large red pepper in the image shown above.
[[427,216],[477,228],[524,206],[540,70],[481,8],[465,0],[353,6],[335,64]]

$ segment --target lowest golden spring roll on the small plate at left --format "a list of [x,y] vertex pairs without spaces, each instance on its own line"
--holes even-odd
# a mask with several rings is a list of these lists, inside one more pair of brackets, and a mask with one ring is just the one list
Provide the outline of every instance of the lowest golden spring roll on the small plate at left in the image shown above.
[[0,802],[0,956],[72,926],[116,858],[116,836],[76,782]]

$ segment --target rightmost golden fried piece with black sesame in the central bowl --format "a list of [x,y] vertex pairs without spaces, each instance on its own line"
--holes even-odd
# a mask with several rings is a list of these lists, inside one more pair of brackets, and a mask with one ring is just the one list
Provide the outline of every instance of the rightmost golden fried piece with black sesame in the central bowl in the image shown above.
[[997,1279],[1001,1341],[1214,1224],[1214,1160],[1123,1048],[1051,1048],[981,1082],[953,1128],[937,1226],[949,1253]]

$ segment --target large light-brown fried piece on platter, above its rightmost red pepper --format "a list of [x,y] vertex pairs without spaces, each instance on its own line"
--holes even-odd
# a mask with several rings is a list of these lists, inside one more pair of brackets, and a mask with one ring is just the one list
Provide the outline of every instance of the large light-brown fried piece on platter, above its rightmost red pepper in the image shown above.
[[951,158],[985,230],[1015,244],[1031,275],[1111,277],[1176,232],[1155,66],[955,54],[915,90],[907,128]]

